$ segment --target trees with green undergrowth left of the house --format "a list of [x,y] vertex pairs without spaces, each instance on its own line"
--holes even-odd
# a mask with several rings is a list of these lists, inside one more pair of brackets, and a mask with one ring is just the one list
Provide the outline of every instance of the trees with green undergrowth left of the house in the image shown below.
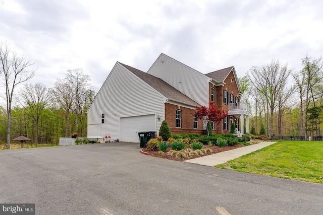
[[[80,68],[67,70],[53,88],[41,83],[17,86],[35,76],[34,62],[0,43],[0,77],[6,89],[6,107],[0,106],[0,141],[10,149],[12,138],[27,136],[37,144],[58,144],[59,137],[87,134],[86,111],[95,92]],[[17,92],[16,92],[17,91]],[[15,105],[15,107],[13,107]]]

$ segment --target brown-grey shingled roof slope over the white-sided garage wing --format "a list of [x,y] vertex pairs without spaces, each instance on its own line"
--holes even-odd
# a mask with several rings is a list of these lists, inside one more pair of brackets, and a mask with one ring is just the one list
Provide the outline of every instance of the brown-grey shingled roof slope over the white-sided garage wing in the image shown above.
[[149,86],[151,86],[153,89],[158,91],[160,94],[164,95],[166,98],[172,101],[181,102],[184,104],[192,105],[192,106],[201,106],[185,94],[181,93],[180,91],[176,90],[171,85],[167,84],[163,80],[154,77],[150,74],[145,73],[144,71],[141,71],[139,69],[136,69],[134,67],[131,67],[129,65],[123,64],[119,62],[122,66],[124,66],[126,69],[131,71],[135,76],[140,78],[142,81],[147,83]]

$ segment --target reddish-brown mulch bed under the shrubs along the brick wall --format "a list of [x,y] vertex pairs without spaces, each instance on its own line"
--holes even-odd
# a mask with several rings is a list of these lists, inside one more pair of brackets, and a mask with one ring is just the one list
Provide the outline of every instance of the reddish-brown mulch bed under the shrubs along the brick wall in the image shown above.
[[216,153],[219,153],[219,152],[225,152],[225,151],[229,151],[229,150],[234,150],[234,149],[241,148],[241,147],[245,147],[245,145],[237,144],[237,145],[230,146],[230,147],[229,146],[225,146],[223,148],[218,147],[218,146],[211,146],[211,147],[209,147],[208,145],[203,145],[203,148],[204,149],[211,149],[212,150],[212,153],[205,153],[202,156],[192,156],[192,157],[187,158],[187,159],[179,159],[177,157],[171,156],[168,153],[172,149],[170,147],[166,150],[166,153],[163,153],[163,154],[159,154],[158,151],[152,151],[152,150],[150,150],[148,148],[144,148],[144,149],[142,149],[142,151],[143,152],[146,152],[146,153],[149,153],[149,155],[152,156],[152,157],[165,158],[165,159],[174,160],[174,161],[186,161],[186,160],[189,160],[189,159],[199,158],[199,157],[203,157],[203,156],[206,156],[206,155],[216,154]]

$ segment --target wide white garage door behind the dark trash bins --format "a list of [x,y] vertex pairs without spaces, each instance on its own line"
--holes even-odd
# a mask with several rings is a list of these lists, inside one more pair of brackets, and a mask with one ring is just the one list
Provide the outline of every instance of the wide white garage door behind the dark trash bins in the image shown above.
[[138,131],[155,129],[155,114],[120,118],[120,141],[139,142]]

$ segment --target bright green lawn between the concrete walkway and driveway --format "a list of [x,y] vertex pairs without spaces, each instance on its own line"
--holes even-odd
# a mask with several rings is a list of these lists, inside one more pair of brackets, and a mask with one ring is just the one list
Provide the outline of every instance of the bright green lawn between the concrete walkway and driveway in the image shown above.
[[323,141],[281,141],[217,168],[323,184]]

